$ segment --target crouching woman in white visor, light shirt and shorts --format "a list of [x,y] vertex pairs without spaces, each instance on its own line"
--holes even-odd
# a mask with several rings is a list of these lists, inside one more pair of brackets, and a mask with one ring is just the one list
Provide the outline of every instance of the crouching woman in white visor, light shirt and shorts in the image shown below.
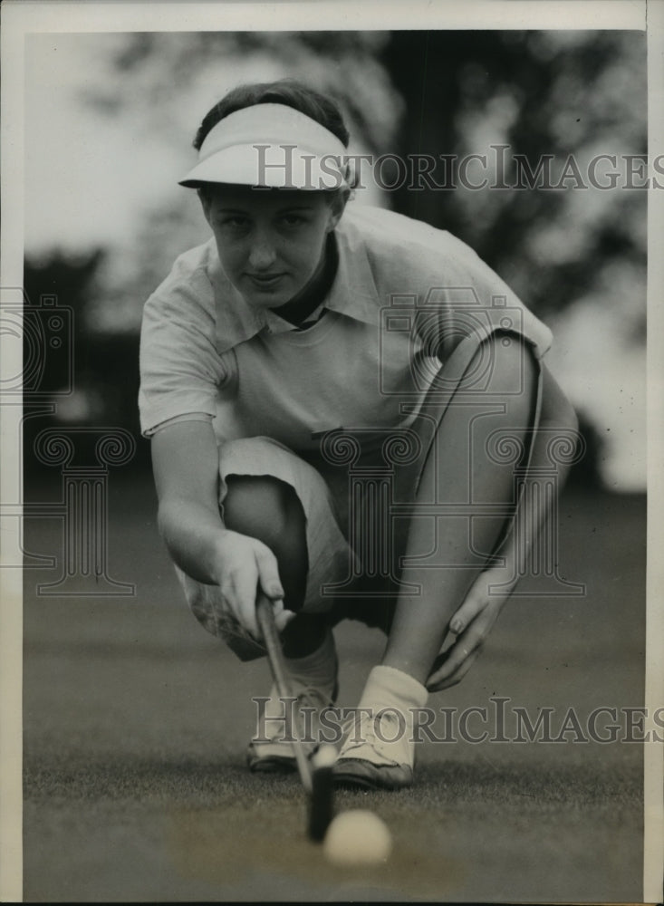
[[[412,783],[418,709],[465,675],[524,556],[496,442],[523,450],[523,474],[544,457],[535,426],[575,419],[542,362],[548,329],[467,246],[346,207],[348,138],[297,82],[209,111],[182,185],[213,237],[146,304],[140,410],[159,528],[209,631],[263,653],[264,593],[314,715],[336,694],[332,626],[386,631],[334,770],[395,789]],[[283,714],[273,688],[265,715]],[[248,762],[293,768],[283,723]]]

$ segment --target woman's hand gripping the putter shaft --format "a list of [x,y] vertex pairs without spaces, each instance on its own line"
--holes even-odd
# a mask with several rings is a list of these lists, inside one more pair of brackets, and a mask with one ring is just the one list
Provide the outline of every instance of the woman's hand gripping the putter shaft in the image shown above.
[[273,602],[278,631],[283,631],[294,618],[294,612],[284,609],[284,588],[276,557],[263,542],[224,529],[215,552],[214,572],[221,592],[215,597],[215,606],[225,614],[230,612],[256,641],[262,641],[255,614],[259,588]]

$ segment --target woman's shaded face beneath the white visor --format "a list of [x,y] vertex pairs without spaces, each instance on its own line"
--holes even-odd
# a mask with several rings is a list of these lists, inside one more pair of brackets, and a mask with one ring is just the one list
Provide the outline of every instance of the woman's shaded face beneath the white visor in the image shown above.
[[341,217],[324,192],[224,186],[201,200],[226,276],[255,308],[276,308],[303,290]]

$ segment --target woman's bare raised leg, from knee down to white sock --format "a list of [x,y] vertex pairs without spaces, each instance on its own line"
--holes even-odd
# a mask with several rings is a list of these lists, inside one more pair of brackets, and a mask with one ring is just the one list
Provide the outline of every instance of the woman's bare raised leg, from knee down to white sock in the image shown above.
[[[424,467],[416,505],[430,503],[435,487],[439,488],[439,501],[445,504],[467,504],[472,499],[478,507],[509,506],[514,501],[514,466],[489,458],[486,439],[496,429],[509,429],[511,435],[524,438],[533,419],[537,366],[521,342],[513,339],[508,346],[498,338],[490,342],[495,355],[486,392],[492,395],[486,398],[485,407],[478,405],[469,410],[467,405],[455,406],[454,401],[449,406]],[[501,391],[519,386],[516,381],[521,381],[523,392],[500,396]],[[503,403],[504,411],[496,411],[500,408],[496,407],[496,400]],[[483,410],[485,414],[481,414]],[[479,417],[469,418],[469,412]],[[472,498],[468,496],[469,489]],[[476,550],[490,552],[504,525],[505,516],[476,518],[472,526]],[[401,576],[403,583],[419,585],[420,592],[399,595],[382,660],[384,666],[408,673],[422,684],[428,678],[452,615],[486,564],[471,550],[469,516],[438,516],[435,526],[430,516],[414,516],[407,558],[422,557],[434,549],[438,563],[458,565],[406,566]]]

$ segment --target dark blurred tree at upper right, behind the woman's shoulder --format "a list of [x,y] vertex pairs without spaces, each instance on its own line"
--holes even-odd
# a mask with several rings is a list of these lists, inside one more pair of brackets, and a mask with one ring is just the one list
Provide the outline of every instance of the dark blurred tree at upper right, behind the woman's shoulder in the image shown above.
[[[556,184],[571,156],[587,183],[593,155],[646,153],[644,34],[395,32],[381,60],[405,101],[402,157],[485,154],[488,172],[469,173],[474,181],[488,175],[491,183],[500,182],[491,145],[509,146],[501,153],[505,186],[511,186],[515,154],[533,172],[551,156]],[[445,184],[442,161],[432,175]],[[393,203],[466,240],[546,316],[601,284],[616,261],[641,275],[645,267],[646,193],[574,188],[575,181],[558,190],[473,191],[458,180],[449,191],[404,186]],[[625,318],[629,333],[638,336],[645,297],[634,302]]]

